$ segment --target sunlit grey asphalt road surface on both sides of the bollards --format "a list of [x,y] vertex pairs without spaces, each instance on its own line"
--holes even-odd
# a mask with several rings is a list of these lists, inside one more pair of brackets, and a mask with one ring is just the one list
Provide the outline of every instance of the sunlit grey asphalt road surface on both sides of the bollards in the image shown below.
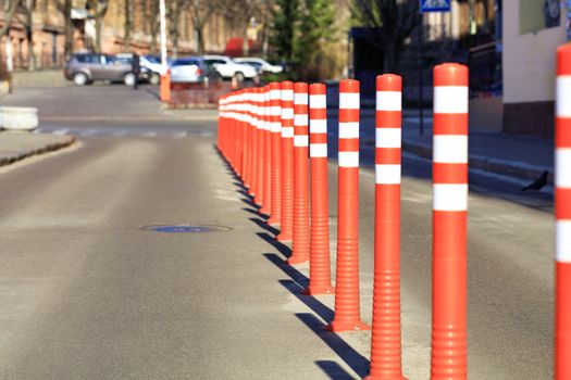
[[[22,89],[41,130],[80,144],[0,173],[0,378],[350,379],[370,333],[333,334],[333,297],[299,294],[218,155],[215,112],[161,110],[150,88]],[[331,126],[334,128],[334,126]],[[334,144],[332,143],[332,147]],[[368,163],[371,150],[364,149]],[[404,368],[429,378],[430,163],[405,156]],[[473,173],[469,207],[469,375],[553,378],[549,197]],[[336,166],[330,166],[335,253]],[[374,175],[361,170],[362,317],[371,320]],[[149,225],[214,225],[159,233]],[[333,261],[334,262],[334,261]]]

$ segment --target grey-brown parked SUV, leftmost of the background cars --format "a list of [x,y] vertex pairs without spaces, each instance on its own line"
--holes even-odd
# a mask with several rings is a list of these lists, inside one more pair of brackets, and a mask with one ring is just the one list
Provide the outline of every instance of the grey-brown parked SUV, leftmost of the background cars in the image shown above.
[[135,83],[131,63],[110,54],[73,54],[65,64],[64,76],[77,86],[85,86],[95,80],[123,81],[127,86]]

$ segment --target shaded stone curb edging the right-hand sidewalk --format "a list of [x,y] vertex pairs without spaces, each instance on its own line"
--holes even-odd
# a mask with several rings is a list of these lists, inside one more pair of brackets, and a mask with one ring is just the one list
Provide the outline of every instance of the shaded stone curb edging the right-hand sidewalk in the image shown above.
[[[412,142],[410,140],[402,140],[402,150],[423,159],[432,160],[432,147]],[[469,155],[469,165],[472,169],[480,169],[525,180],[535,180],[544,173],[544,170],[548,169],[548,183],[553,185],[554,173],[551,167],[543,167],[517,161],[495,160],[475,154]]]

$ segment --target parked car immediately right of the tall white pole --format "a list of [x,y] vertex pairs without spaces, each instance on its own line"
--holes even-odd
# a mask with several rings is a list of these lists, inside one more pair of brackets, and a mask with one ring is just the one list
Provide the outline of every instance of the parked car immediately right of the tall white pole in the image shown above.
[[185,56],[171,63],[171,83],[204,84],[220,80],[220,74],[200,56]]

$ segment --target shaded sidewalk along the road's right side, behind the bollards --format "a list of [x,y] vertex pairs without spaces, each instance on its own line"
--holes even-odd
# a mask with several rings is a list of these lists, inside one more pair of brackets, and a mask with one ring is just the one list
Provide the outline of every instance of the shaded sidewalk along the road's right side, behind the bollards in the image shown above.
[[[420,135],[420,121],[406,115],[402,149],[422,157],[432,159],[432,116],[424,119],[424,134]],[[470,132],[470,168],[520,179],[537,179],[549,170],[553,183],[554,144],[550,140],[495,132]]]

